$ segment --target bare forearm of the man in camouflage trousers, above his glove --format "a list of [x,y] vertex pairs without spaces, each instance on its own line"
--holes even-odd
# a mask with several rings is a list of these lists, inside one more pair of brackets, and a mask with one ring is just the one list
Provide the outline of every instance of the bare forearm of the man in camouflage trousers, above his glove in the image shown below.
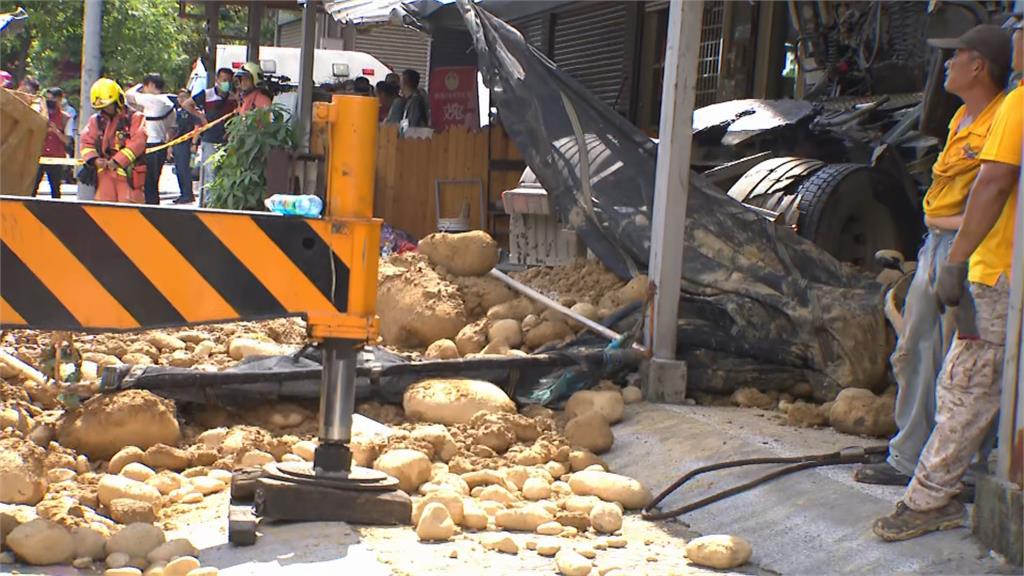
[[999,162],[982,164],[968,197],[964,222],[949,250],[948,261],[964,262],[999,219],[1017,181],[1018,168]]

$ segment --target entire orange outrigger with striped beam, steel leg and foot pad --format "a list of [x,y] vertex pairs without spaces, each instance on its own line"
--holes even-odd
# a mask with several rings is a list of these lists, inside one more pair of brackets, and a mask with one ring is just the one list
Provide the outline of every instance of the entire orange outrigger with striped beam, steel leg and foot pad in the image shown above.
[[[255,512],[278,520],[410,522],[391,477],[352,466],[356,354],[377,335],[381,221],[373,218],[377,100],[336,95],[325,217],[0,196],[0,326],[87,332],[302,316],[322,342],[319,446],[274,463]],[[0,191],[2,192],[2,191]],[[229,535],[255,541],[232,507]]]

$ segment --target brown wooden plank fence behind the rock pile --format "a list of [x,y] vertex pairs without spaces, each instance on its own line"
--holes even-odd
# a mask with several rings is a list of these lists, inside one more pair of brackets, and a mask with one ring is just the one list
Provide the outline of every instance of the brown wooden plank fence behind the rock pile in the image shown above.
[[422,238],[437,230],[435,191],[440,182],[440,217],[459,217],[468,211],[471,228],[487,230],[504,241],[507,218],[501,209],[501,193],[515,187],[524,166],[500,125],[404,138],[395,125],[382,124],[374,212]]

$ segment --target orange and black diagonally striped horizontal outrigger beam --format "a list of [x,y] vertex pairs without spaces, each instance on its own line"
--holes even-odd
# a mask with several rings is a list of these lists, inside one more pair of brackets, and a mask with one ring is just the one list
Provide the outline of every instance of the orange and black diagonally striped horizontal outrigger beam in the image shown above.
[[0,326],[124,331],[302,316],[376,336],[380,220],[0,197]]

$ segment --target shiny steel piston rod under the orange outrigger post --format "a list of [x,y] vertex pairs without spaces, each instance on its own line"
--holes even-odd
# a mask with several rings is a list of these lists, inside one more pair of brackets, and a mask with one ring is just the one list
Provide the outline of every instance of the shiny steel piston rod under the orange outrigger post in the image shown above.
[[348,444],[352,438],[356,349],[354,342],[333,338],[324,341],[319,421],[322,442]]

